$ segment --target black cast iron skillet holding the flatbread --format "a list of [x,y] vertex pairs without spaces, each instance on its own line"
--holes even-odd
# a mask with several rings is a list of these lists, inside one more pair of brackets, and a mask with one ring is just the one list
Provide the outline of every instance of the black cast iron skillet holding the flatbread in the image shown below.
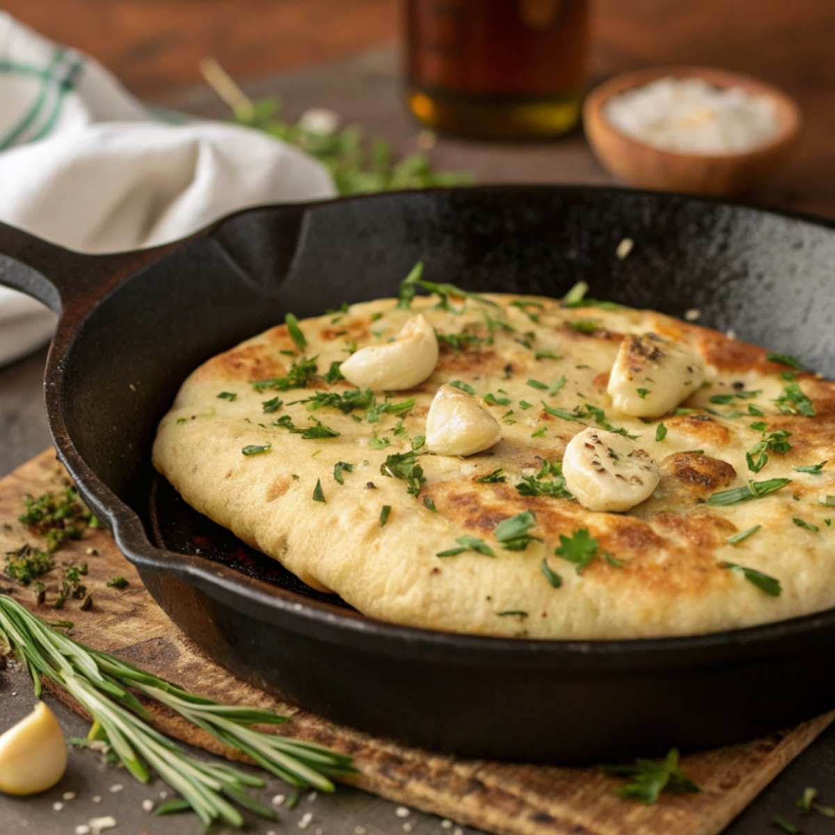
[[[624,237],[628,258],[615,257]],[[597,296],[835,374],[822,222],[584,187],[423,191],[233,215],[175,245],[79,256],[0,228],[0,282],[63,311],[46,371],[58,452],[164,610],[209,655],[322,716],[478,757],[589,761],[714,746],[832,708],[835,610],[625,641],[504,640],[371,620],[180,502],[154,430],[207,357],[282,321],[392,295],[422,258],[473,290]]]

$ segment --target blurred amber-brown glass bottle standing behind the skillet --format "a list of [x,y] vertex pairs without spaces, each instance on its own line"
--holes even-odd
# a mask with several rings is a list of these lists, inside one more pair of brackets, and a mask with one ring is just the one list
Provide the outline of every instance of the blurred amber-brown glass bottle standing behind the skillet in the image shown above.
[[417,119],[478,139],[551,139],[577,124],[588,0],[406,0]]

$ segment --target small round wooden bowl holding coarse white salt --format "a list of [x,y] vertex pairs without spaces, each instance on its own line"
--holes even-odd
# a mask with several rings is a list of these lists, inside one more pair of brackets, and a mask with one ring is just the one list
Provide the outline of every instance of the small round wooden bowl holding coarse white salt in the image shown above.
[[[716,87],[740,87],[771,97],[777,105],[777,132],[767,143],[742,153],[688,154],[633,139],[606,118],[604,107],[610,97],[668,76],[701,78]],[[719,196],[739,195],[762,185],[791,151],[801,118],[792,99],[756,78],[710,67],[655,67],[617,75],[593,89],[583,105],[583,123],[600,164],[619,180],[646,189]]]

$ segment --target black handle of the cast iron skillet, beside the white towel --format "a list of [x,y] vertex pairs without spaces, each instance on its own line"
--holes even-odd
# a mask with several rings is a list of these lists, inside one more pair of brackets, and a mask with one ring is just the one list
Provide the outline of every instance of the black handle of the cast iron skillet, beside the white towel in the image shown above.
[[64,317],[78,319],[125,277],[180,243],[85,255],[0,223],[0,285],[43,301]]

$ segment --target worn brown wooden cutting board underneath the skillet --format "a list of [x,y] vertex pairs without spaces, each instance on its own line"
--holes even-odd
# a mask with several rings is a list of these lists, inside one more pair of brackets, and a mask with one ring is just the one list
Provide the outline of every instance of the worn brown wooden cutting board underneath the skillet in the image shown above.
[[[64,478],[53,450],[48,450],[0,479],[0,552],[26,541],[35,544],[17,521],[21,498],[25,493],[37,496],[61,488]],[[286,705],[202,655],[151,600],[139,575],[104,530],[90,531],[83,540],[58,551],[58,564],[73,560],[88,562],[87,585],[94,601],[92,609],[83,612],[73,600],[61,613],[60,617],[73,620],[73,637],[217,701],[292,716],[281,732],[352,754],[359,770],[352,782],[358,787],[500,835],[714,835],[835,718],[833,712],[790,731],[684,757],[683,767],[701,793],[663,796],[655,806],[643,806],[622,800],[615,794],[620,782],[593,769],[440,756],[374,739]],[[107,588],[106,582],[117,575],[129,580],[127,589]],[[0,588],[8,585],[0,579]],[[48,598],[54,597],[49,591],[56,585],[54,580],[48,582]],[[54,610],[38,606],[32,590],[15,586],[13,594],[39,615],[56,617]],[[229,754],[212,737],[176,716],[158,711],[154,718],[170,736]]]

